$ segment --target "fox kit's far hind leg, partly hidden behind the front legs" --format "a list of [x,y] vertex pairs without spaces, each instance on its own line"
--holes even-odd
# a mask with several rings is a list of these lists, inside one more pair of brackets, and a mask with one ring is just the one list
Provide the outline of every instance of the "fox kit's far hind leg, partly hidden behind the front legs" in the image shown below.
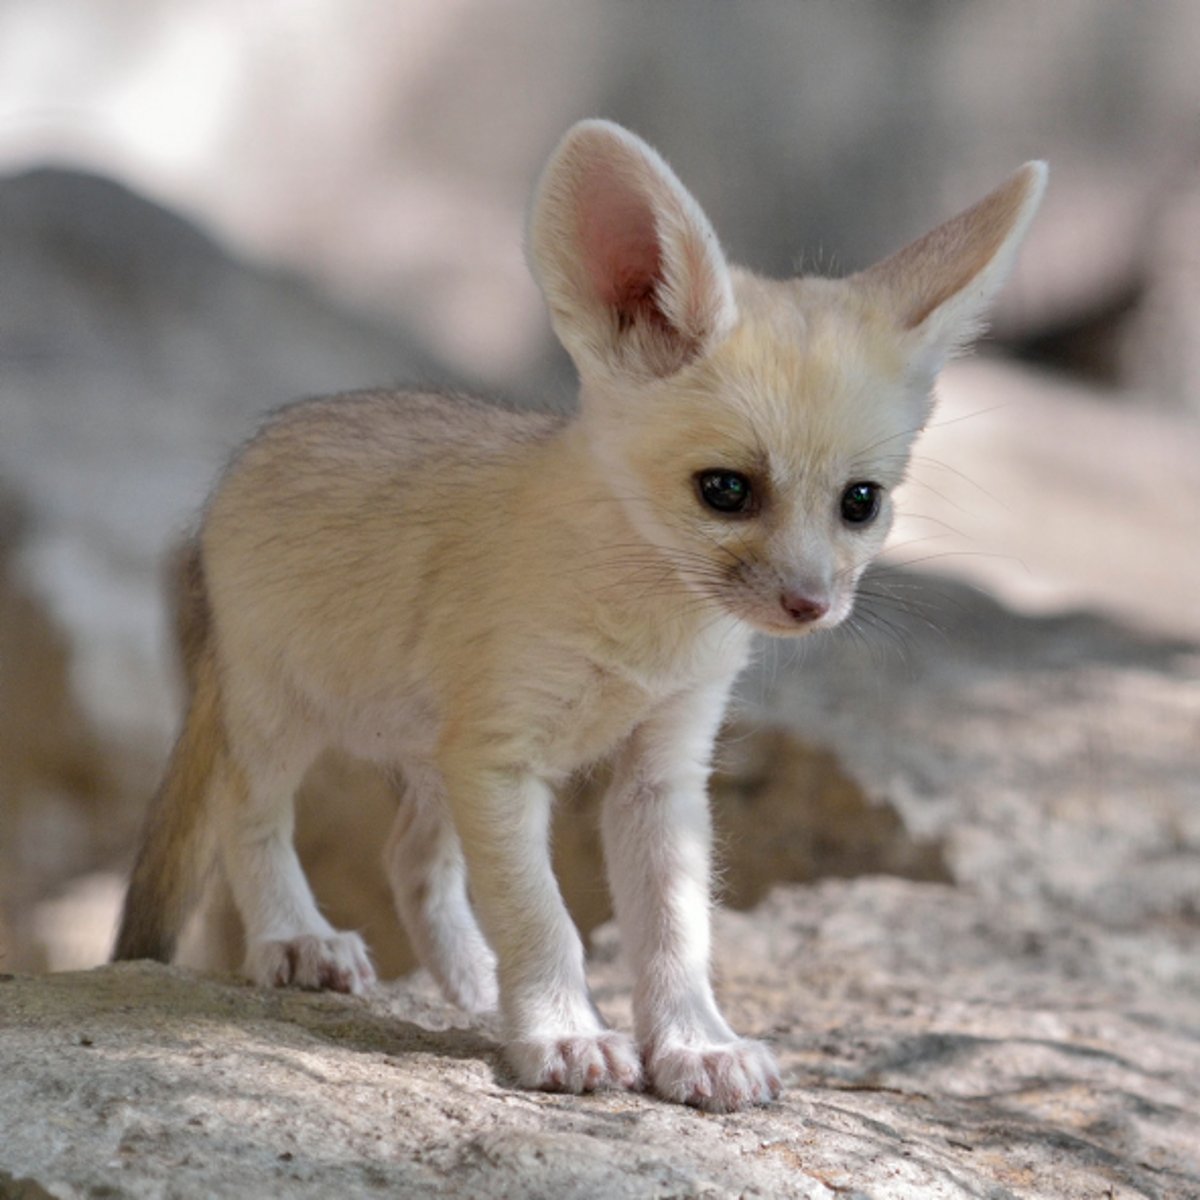
[[470,907],[467,865],[436,768],[404,769],[384,868],[413,949],[445,995],[472,1013],[496,1008],[496,955]]

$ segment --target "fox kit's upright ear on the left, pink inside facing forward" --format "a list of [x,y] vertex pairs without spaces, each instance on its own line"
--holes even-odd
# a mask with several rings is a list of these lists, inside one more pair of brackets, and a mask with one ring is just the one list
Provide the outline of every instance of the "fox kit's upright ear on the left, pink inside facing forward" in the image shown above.
[[673,374],[737,318],[700,205],[654,150],[610,121],[581,121],[554,151],[529,248],[554,331],[583,374]]

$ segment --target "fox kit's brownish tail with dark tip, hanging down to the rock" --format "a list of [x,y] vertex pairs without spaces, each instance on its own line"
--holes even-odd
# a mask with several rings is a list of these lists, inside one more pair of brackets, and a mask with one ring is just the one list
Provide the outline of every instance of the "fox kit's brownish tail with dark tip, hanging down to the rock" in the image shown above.
[[224,730],[204,570],[194,541],[184,548],[173,577],[175,632],[187,676],[187,718],[150,804],[114,960],[169,962],[212,865],[208,800],[214,768],[224,749]]

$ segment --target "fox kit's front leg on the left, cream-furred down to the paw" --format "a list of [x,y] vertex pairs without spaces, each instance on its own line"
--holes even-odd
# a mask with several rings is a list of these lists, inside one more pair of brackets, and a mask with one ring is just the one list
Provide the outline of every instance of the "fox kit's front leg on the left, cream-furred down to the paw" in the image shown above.
[[605,1027],[588,995],[583,944],[550,860],[552,794],[535,775],[444,769],[476,913],[496,952],[504,1055],[526,1087],[641,1086],[631,1038]]

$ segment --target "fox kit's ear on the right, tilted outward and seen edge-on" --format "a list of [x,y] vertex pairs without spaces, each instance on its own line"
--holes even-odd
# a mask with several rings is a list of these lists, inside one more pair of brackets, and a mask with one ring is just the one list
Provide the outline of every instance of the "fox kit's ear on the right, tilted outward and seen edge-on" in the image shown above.
[[1045,191],[1046,166],[1027,162],[973,208],[853,276],[886,307],[929,380],[983,329]]

